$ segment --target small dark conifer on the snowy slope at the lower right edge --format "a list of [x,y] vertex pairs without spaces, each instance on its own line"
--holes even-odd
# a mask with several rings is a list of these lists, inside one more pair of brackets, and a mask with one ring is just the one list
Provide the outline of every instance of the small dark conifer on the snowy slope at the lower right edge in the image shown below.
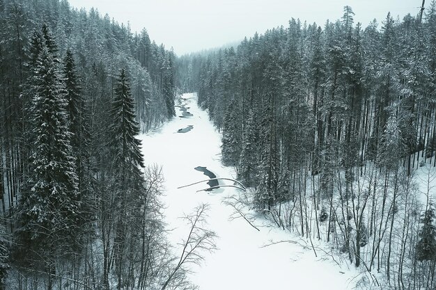
[[436,226],[433,204],[430,204],[421,221],[423,227],[419,234],[421,239],[416,245],[416,259],[418,261],[434,260],[436,259]]

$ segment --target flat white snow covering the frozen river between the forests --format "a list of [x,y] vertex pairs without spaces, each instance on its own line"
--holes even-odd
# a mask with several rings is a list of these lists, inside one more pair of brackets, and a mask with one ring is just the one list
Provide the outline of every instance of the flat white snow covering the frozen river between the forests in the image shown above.
[[[218,250],[205,252],[203,263],[193,266],[192,281],[203,290],[355,289],[365,274],[345,261],[336,259],[336,263],[325,253],[329,252],[327,245],[313,241],[316,257],[309,240],[271,225],[261,215],[253,222],[260,231],[243,218],[229,219],[234,210],[222,202],[227,196],[238,196],[237,189],[196,192],[207,188],[205,183],[178,189],[208,178],[194,170],[197,166],[207,167],[217,177],[235,177],[233,168],[221,166],[221,136],[208,114],[196,105],[196,95],[185,94],[182,99],[192,117],[173,118],[140,138],[146,163],[163,166],[164,214],[169,229],[173,229],[169,236],[173,245],[187,235],[187,225],[180,217],[199,204],[210,204],[208,229],[218,235]],[[177,107],[176,113],[181,116],[183,112]],[[189,125],[190,131],[178,133]]]

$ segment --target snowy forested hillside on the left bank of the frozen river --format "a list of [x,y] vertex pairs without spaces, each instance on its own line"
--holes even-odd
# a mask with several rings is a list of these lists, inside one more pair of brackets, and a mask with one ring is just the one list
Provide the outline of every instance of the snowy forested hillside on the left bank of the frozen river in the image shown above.
[[97,10],[0,0],[0,289],[187,284],[137,138],[175,114],[175,57]]

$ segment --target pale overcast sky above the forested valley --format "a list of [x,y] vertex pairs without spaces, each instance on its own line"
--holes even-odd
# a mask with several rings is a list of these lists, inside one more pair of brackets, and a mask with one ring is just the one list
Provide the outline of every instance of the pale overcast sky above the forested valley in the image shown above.
[[[132,31],[146,28],[150,38],[179,56],[221,47],[267,29],[287,26],[291,17],[323,26],[335,21],[343,6],[352,7],[355,22],[381,25],[390,11],[394,19],[416,15],[421,0],[69,0],[76,8],[97,8],[118,22],[130,22]],[[428,3],[430,0],[427,1]],[[426,6],[428,6],[426,3]]]

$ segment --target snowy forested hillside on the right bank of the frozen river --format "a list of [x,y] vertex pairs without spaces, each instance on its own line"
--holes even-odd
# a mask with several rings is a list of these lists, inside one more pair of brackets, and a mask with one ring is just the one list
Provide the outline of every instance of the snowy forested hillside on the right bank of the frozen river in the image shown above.
[[332,244],[368,285],[436,287],[436,2],[423,15],[291,19],[178,59],[252,207]]

